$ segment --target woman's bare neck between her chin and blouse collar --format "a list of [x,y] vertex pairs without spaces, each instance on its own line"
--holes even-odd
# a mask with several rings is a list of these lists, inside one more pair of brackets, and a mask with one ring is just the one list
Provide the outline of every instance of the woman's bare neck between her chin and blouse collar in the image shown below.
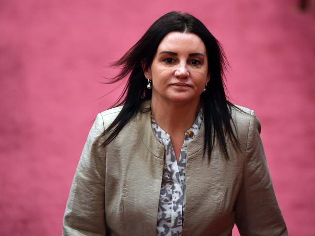
[[151,101],[153,118],[169,134],[186,132],[194,123],[200,108],[200,99],[190,103],[174,103],[152,96]]

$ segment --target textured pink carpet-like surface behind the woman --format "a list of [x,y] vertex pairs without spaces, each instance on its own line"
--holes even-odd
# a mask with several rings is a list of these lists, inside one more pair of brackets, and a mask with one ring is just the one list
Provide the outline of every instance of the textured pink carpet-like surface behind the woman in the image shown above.
[[[0,235],[61,235],[91,121],[121,91],[106,68],[181,10],[221,41],[232,102],[250,107],[290,235],[315,232],[315,17],[294,0],[0,2]],[[236,230],[234,235],[238,235]]]

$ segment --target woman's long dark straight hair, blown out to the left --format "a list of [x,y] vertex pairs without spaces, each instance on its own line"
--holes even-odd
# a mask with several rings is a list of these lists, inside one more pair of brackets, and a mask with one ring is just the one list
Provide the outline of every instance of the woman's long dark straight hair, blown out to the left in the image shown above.
[[109,144],[138,112],[144,112],[141,103],[151,99],[152,91],[147,88],[147,80],[143,70],[146,71],[151,67],[158,45],[165,35],[172,31],[194,33],[205,44],[210,80],[206,91],[201,94],[204,107],[203,122],[205,122],[204,155],[207,151],[210,160],[215,137],[217,137],[221,152],[226,159],[229,159],[225,134],[235,148],[239,148],[240,144],[232,128],[232,125],[235,126],[235,124],[231,113],[232,107],[235,106],[227,101],[224,92],[223,78],[227,60],[220,43],[205,25],[194,16],[180,12],[169,12],[157,19],[121,59],[112,63],[112,66],[122,69],[107,83],[118,82],[128,75],[129,78],[122,94],[111,106],[124,105],[115,120],[105,130],[105,133],[110,132],[110,135],[106,138],[104,145]]

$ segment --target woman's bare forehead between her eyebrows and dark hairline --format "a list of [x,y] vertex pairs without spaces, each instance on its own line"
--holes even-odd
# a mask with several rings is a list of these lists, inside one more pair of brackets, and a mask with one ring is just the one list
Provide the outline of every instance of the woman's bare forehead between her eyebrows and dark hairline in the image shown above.
[[173,51],[176,53],[195,53],[205,54],[204,42],[194,33],[170,32],[165,35],[157,47],[157,52]]

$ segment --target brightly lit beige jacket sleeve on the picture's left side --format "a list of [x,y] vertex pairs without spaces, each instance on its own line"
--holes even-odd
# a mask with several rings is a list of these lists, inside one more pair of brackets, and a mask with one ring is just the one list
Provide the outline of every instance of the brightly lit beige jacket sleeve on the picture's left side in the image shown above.
[[98,114],[83,148],[63,217],[63,236],[104,236],[104,123]]

